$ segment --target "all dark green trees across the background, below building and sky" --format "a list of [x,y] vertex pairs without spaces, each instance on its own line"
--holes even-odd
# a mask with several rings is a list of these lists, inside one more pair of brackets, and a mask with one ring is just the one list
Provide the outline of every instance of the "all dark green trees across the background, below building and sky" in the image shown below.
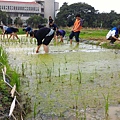
[[[114,10],[111,10],[110,13],[100,13],[98,10],[95,10],[93,6],[81,2],[71,5],[64,2],[55,17],[55,23],[59,27],[70,27],[73,25],[77,13],[80,13],[81,15],[83,27],[111,28],[120,24],[120,14],[117,14]],[[0,11],[0,21],[2,21],[3,24],[12,24],[11,17],[2,11]],[[26,23],[31,25],[31,27],[36,27],[38,24],[46,24],[47,21],[47,18],[33,15],[26,21]],[[23,25],[23,22],[19,17],[15,19],[15,25]]]

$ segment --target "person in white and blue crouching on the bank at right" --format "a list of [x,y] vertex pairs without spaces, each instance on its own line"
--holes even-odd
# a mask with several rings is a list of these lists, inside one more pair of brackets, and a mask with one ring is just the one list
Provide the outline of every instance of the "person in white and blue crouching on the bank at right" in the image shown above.
[[120,34],[120,25],[117,27],[113,27],[106,35],[106,39],[110,40],[110,44],[114,44],[116,40],[119,40],[119,34]]

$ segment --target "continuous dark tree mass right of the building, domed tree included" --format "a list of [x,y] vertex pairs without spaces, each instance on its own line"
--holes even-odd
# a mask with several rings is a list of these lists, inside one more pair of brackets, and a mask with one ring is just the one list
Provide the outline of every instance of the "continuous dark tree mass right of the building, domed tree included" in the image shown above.
[[66,2],[63,3],[55,22],[58,26],[62,27],[72,26],[77,13],[84,19],[83,27],[111,28],[120,24],[120,14],[117,14],[113,10],[110,13],[99,13],[91,5],[81,2],[71,5],[68,5]]

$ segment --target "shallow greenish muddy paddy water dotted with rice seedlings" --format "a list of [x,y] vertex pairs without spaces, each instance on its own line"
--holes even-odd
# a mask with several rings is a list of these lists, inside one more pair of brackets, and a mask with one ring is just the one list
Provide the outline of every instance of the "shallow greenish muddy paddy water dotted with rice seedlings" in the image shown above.
[[52,41],[49,54],[42,47],[36,54],[30,38],[1,44],[21,74],[23,104],[31,107],[26,120],[120,119],[119,50]]

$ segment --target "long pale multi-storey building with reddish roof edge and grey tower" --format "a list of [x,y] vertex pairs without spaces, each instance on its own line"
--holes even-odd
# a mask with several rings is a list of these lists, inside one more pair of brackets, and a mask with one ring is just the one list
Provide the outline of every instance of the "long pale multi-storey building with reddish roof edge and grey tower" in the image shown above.
[[59,3],[55,0],[36,0],[34,2],[0,0],[0,10],[6,12],[13,20],[20,17],[23,22],[31,15],[41,15],[44,18],[55,17]]

